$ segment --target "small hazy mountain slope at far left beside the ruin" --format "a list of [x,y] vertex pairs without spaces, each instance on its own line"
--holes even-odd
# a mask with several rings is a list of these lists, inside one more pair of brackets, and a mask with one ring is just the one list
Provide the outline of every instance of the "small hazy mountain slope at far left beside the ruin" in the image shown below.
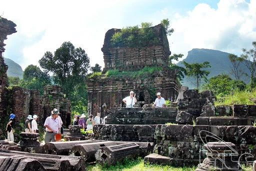
[[21,66],[16,62],[14,62],[13,60],[8,59],[6,57],[4,57],[3,59],[4,59],[4,63],[8,65],[7,76],[18,76],[19,79],[21,79],[23,74],[23,70]]

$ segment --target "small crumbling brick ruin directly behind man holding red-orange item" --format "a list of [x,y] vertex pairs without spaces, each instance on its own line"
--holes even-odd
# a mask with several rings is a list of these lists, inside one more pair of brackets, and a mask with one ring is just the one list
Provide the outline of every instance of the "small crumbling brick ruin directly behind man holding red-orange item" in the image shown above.
[[67,128],[71,122],[71,105],[70,101],[64,97],[63,88],[58,85],[46,85],[43,89],[44,93],[41,96],[42,120],[44,121],[50,115],[53,108],[57,108],[63,121],[63,127]]

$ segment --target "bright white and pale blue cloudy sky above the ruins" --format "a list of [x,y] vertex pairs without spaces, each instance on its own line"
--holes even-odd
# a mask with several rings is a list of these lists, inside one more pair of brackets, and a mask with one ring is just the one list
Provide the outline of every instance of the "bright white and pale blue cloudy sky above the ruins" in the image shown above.
[[104,67],[104,36],[108,29],[153,25],[168,18],[172,54],[209,48],[240,55],[256,41],[256,0],[1,0],[0,16],[13,21],[16,33],[4,40],[3,56],[22,70],[39,66],[46,51],[64,41],[81,47],[90,66]]

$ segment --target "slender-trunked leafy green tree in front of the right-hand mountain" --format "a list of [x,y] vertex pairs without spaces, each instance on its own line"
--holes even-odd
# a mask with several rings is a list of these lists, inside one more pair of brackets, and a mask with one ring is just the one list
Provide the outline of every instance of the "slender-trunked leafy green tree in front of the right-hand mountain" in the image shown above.
[[204,61],[202,63],[191,63],[191,64],[183,61],[182,63],[185,65],[186,75],[196,78],[196,87],[198,89],[201,78],[203,77],[204,79],[206,79],[206,76],[208,76],[208,74],[210,73],[210,71],[208,70],[200,70],[200,69],[211,67],[211,65],[209,65],[208,61]]

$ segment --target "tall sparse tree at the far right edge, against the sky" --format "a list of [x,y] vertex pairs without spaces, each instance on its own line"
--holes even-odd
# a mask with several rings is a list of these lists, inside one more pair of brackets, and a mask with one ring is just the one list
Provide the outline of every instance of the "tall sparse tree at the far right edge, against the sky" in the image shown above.
[[242,48],[242,54],[240,57],[243,59],[242,64],[244,64],[250,71],[250,80],[251,84],[254,84],[253,78],[255,77],[256,73],[256,41],[252,41],[252,49],[246,50]]

